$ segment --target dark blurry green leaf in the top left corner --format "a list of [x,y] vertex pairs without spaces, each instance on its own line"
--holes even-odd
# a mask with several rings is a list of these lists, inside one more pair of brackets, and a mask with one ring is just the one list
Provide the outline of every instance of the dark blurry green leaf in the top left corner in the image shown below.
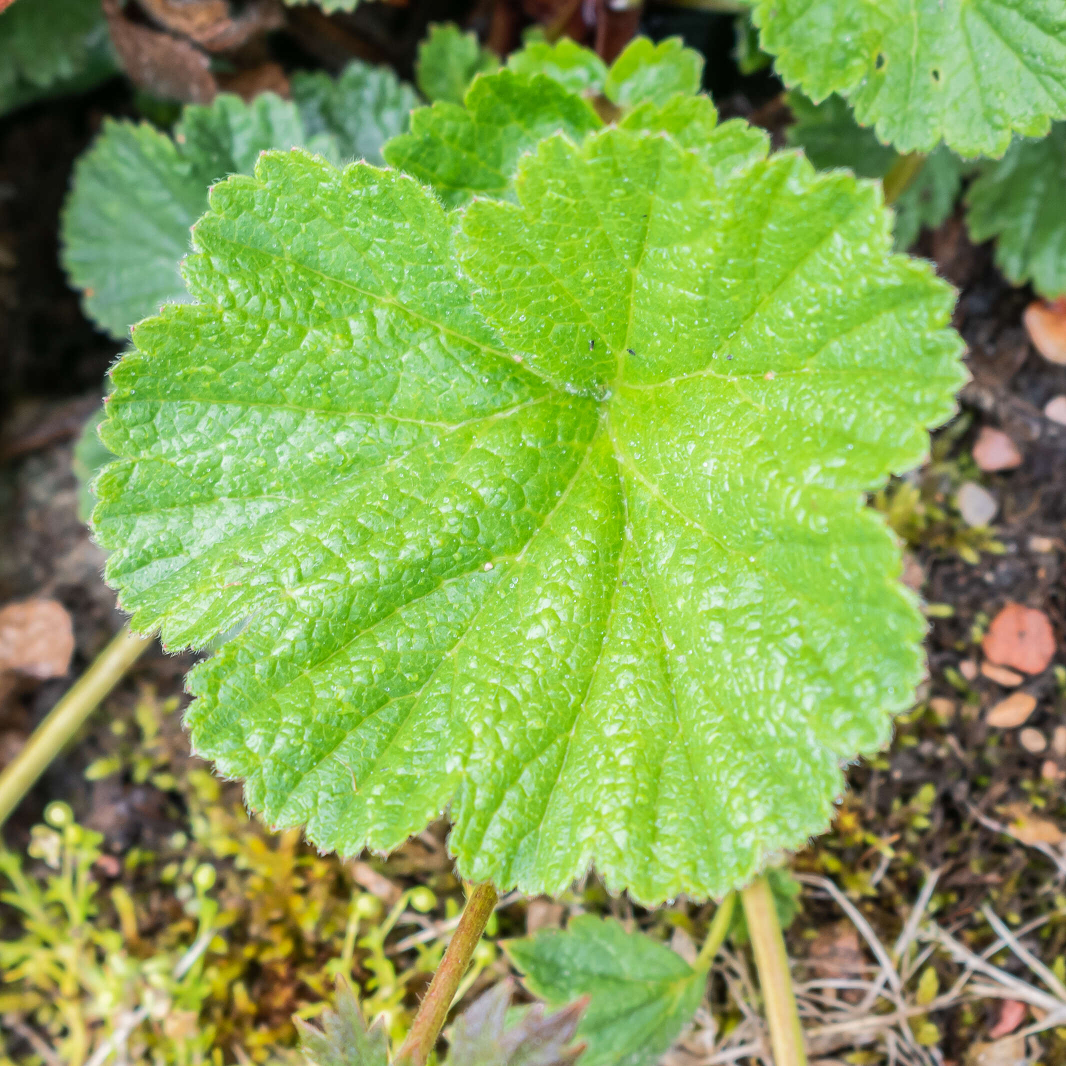
[[31,0],[0,13],[0,114],[116,71],[99,0]]

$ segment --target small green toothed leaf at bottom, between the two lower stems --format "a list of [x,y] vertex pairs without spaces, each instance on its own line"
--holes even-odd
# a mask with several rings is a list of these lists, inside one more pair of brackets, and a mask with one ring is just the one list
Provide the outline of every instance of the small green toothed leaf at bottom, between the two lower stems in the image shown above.
[[549,1003],[589,997],[581,1066],[651,1066],[692,1020],[707,984],[680,955],[613,918],[579,915],[565,933],[505,946],[530,991]]

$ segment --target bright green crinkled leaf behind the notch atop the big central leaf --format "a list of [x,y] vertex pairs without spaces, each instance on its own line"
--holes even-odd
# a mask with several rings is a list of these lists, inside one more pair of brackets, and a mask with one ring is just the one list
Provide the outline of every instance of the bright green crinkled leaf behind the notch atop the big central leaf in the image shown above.
[[591,103],[551,78],[504,69],[479,78],[465,107],[442,102],[413,112],[410,132],[384,154],[454,207],[474,195],[507,195],[519,159],[538,141],[555,132],[581,141],[602,125]]

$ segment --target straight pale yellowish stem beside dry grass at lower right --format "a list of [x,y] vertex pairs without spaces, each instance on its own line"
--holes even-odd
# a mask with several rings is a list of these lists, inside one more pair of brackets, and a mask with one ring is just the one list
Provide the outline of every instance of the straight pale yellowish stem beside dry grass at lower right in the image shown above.
[[765,877],[752,882],[741,893],[744,917],[755,951],[755,965],[759,971],[759,987],[770,1027],[770,1045],[775,1066],[806,1066],[807,1053],[803,1045],[803,1027],[792,991],[789,956],[785,937],[777,921],[774,894]]

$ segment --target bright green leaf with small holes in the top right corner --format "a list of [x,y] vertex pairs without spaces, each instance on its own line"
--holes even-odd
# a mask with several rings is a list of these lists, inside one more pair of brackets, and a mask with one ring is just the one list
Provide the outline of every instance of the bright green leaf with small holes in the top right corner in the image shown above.
[[1061,0],[758,0],[754,17],[786,83],[841,93],[900,151],[1001,156],[1066,116]]

